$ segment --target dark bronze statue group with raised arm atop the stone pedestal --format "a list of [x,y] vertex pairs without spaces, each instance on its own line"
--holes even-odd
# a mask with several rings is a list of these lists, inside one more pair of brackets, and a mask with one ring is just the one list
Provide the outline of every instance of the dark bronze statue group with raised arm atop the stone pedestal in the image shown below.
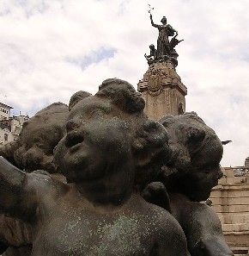
[[[158,28],[159,35],[157,38],[157,49],[153,45],[150,45],[150,54],[144,54],[145,58],[148,61],[148,64],[151,65],[155,62],[171,62],[173,66],[178,65],[178,53],[175,51],[174,47],[176,47],[179,42],[183,40],[178,40],[176,37],[178,35],[177,30],[175,30],[171,25],[167,24],[166,16],[163,16],[161,19],[161,25],[157,25],[154,23],[152,15],[149,11],[149,17],[151,25],[155,28]],[[168,37],[173,36],[171,41],[169,41]],[[153,51],[151,51],[151,46],[154,47]],[[153,53],[152,53],[153,52]]]

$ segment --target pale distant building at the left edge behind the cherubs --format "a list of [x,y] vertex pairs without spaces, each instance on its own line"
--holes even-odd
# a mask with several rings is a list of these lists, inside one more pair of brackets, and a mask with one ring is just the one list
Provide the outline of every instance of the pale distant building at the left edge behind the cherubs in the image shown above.
[[0,145],[16,140],[28,116],[10,116],[12,107],[0,103]]

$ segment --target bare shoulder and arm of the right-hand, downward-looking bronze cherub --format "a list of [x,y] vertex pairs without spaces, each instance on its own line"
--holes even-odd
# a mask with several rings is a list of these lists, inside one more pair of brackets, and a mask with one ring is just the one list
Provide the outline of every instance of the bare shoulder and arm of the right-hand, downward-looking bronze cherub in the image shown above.
[[[171,199],[175,199],[171,197]],[[178,221],[185,232],[191,256],[234,255],[222,234],[216,212],[204,203],[173,201],[173,214],[179,212]]]

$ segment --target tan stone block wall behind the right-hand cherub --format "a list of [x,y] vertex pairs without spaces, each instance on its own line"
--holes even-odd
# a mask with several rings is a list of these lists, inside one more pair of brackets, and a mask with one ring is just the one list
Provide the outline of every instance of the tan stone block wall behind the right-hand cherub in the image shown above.
[[224,177],[210,200],[222,222],[222,231],[234,254],[248,254],[249,177],[234,177],[234,168],[224,168]]

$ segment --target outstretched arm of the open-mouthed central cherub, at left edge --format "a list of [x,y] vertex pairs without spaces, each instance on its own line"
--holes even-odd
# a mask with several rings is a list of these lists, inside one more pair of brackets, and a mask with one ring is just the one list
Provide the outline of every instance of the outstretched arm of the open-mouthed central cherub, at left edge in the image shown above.
[[27,174],[0,157],[0,211],[25,221],[34,213],[35,200],[27,192]]

